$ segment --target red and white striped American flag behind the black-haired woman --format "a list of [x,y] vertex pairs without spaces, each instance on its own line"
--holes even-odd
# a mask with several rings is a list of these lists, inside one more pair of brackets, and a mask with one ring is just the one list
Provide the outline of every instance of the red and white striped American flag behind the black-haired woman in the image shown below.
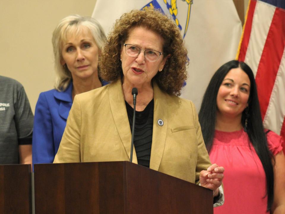
[[[257,83],[263,125],[285,138],[285,1],[250,0],[238,60]],[[285,152],[285,145],[283,145]]]

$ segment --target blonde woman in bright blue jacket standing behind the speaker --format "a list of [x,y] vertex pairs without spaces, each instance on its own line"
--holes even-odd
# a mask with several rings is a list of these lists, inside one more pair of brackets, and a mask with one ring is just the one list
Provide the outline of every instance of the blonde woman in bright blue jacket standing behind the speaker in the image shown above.
[[89,17],[70,15],[58,23],[52,38],[56,84],[37,101],[33,164],[53,162],[75,95],[107,84],[97,69],[105,38],[100,24]]

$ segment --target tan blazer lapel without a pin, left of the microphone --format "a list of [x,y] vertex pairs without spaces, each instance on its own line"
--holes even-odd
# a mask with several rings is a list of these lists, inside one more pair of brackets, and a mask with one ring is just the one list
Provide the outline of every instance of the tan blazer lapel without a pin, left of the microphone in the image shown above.
[[[127,115],[121,79],[109,84],[109,101],[115,126],[125,147],[126,153],[130,158],[132,133]],[[132,162],[137,163],[137,155],[134,147]]]

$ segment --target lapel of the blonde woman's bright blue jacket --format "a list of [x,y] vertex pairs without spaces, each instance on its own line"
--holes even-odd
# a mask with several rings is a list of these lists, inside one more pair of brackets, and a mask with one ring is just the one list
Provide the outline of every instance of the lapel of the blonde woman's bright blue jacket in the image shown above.
[[58,114],[63,119],[67,119],[70,108],[72,106],[72,82],[69,83],[65,91],[59,92],[55,90],[53,96],[59,100]]

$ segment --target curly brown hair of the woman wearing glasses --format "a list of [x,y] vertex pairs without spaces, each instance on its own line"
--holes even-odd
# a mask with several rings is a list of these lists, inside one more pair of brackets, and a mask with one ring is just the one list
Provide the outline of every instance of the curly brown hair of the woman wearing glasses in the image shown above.
[[99,75],[107,81],[115,81],[123,76],[120,61],[121,48],[134,27],[144,27],[159,34],[163,40],[163,57],[170,54],[162,72],[154,79],[160,89],[170,95],[181,95],[180,91],[187,79],[187,49],[174,21],[159,10],[147,8],[132,10],[117,19],[108,34],[107,43],[99,56]]

